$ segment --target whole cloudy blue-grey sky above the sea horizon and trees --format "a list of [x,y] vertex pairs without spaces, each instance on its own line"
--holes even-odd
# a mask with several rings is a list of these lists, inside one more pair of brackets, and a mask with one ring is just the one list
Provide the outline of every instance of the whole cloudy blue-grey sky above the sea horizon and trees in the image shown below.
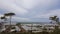
[[0,16],[13,12],[12,21],[50,22],[49,17],[60,17],[60,0],[0,0]]

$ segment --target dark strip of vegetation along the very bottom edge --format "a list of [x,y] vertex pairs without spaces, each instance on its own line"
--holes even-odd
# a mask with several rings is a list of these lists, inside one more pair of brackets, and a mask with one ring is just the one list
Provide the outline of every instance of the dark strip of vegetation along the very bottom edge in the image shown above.
[[31,33],[31,32],[11,32],[11,33],[4,33],[4,32],[2,32],[2,33],[0,33],[0,34],[60,34],[60,31],[59,32],[50,32],[50,33],[48,33],[48,32],[39,32],[39,33]]

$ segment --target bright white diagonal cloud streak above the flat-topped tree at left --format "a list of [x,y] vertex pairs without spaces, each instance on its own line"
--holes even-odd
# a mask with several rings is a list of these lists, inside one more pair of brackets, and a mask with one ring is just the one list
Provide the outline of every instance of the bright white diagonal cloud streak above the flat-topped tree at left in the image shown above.
[[7,1],[0,0],[0,8],[5,9],[7,12],[14,12],[18,15],[25,15],[27,13],[27,10],[24,8],[21,8],[20,6]]

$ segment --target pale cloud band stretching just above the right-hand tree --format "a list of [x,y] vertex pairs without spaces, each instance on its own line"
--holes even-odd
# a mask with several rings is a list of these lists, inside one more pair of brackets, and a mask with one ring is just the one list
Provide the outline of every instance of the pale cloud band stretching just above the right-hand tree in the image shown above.
[[51,10],[48,13],[36,15],[35,18],[49,18],[50,16],[55,16],[55,15],[60,17],[60,9]]

